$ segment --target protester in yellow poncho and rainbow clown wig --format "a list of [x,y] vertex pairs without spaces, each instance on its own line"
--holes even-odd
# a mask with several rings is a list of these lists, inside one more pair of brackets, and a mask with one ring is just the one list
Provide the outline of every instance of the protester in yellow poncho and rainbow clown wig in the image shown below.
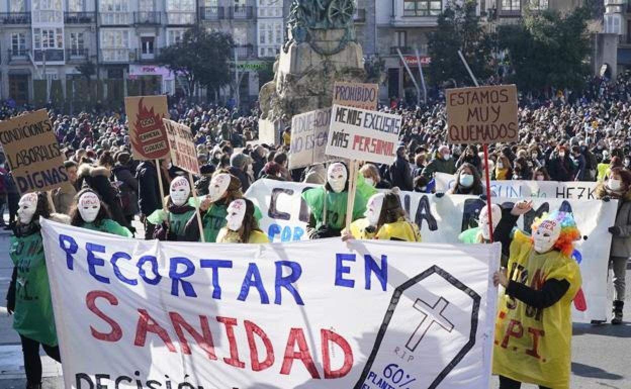
[[580,237],[569,212],[545,214],[533,223],[533,236],[516,229],[517,218],[530,211],[519,202],[505,214],[495,233],[509,254],[506,269],[493,274],[505,287],[495,322],[493,373],[500,389],[522,382],[541,389],[569,389],[572,339],[570,305],[581,287],[579,266],[570,256]]

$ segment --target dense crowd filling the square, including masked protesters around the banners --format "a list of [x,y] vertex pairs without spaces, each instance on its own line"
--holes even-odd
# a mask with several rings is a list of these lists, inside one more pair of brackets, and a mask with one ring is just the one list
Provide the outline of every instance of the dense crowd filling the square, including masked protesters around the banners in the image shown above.
[[[352,210],[346,207],[348,195],[353,193],[349,191],[353,177],[345,163],[289,168],[292,132],[286,118],[281,120],[279,144],[267,144],[257,141],[256,111],[244,114],[214,105],[170,104],[170,117],[191,128],[197,148],[201,173],[189,182],[187,173],[167,160],[158,161],[156,166],[155,161],[133,158],[125,113],[50,112],[72,186],[58,188],[50,196],[20,197],[4,155],[0,155],[0,202],[2,210],[8,207],[6,228],[13,231],[11,257],[16,264],[26,260],[16,250],[24,241],[41,245],[39,216],[125,238],[265,243],[268,236],[258,224],[261,211],[244,195],[262,178],[317,184],[302,194],[309,206],[310,239],[341,236],[344,240],[421,241],[418,226],[401,205],[399,191],[435,192],[433,178],[440,172],[454,175],[450,194],[485,195],[483,180],[488,167],[492,180],[598,181],[599,199],[618,199],[618,214],[609,231],[613,237],[611,263],[616,291],[611,323],[620,324],[626,263],[631,256],[631,101],[625,95],[628,81],[603,86],[594,79],[590,85],[593,88],[581,98],[559,94],[550,100],[522,99],[520,141],[490,146],[488,161],[474,145],[446,143],[444,104],[380,107],[403,117],[396,161],[391,165],[361,165]],[[28,109],[5,104],[0,115],[7,119]],[[192,196],[193,189],[199,194],[198,202]],[[506,288],[505,304],[514,304],[516,298],[524,306],[555,311],[552,317],[563,325],[544,323],[546,337],[541,342],[554,339],[555,333],[565,339],[568,330],[571,335],[570,302],[581,285],[580,272],[568,253],[577,230],[571,214],[551,214],[535,222],[533,241],[523,234],[516,235],[516,218],[528,210],[524,202],[510,210],[485,209],[480,214],[480,225],[485,225],[483,218],[493,214],[493,235],[502,242],[509,269],[514,270],[511,264],[548,261],[557,277],[548,277],[543,289],[535,290],[516,282],[515,274],[500,270],[495,282]],[[348,229],[347,213],[352,220]],[[0,222],[5,223],[4,218]],[[139,226],[142,231],[137,229]],[[469,243],[490,241],[489,230],[471,232],[466,238]],[[532,250],[533,257],[524,257],[528,250]],[[42,252],[40,257],[30,259],[31,267],[36,262],[44,266],[43,258]],[[45,303],[32,306],[20,298],[16,280],[27,277],[34,277],[33,272],[16,266],[8,308],[15,313],[14,328],[22,338],[28,388],[38,388],[39,344],[57,360],[59,349],[52,308]],[[41,281],[43,276],[39,277]],[[44,289],[42,293],[46,294]],[[39,315],[40,320],[29,315]],[[567,349],[569,340],[541,347]],[[521,381],[537,383],[541,388],[550,382],[555,388],[569,385],[568,361],[558,364],[556,370],[539,371],[543,376],[538,378],[501,362],[494,365],[502,389],[518,388]]]

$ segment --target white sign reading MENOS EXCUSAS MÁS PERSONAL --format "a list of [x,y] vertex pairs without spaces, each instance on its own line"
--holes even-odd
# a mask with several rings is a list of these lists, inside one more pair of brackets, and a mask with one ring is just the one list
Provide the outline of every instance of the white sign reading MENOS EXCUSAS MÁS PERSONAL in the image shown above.
[[402,122],[391,113],[333,105],[326,154],[390,165],[396,160]]

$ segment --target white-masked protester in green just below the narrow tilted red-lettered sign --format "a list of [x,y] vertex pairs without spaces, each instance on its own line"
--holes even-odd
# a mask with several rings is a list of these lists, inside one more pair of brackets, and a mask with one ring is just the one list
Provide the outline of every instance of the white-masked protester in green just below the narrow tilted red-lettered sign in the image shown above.
[[[186,177],[174,178],[169,188],[167,210],[158,209],[147,218],[149,223],[158,226],[154,230],[153,238],[168,241],[186,241],[186,224],[191,218],[196,222],[193,200],[189,180]],[[194,241],[197,241],[197,239]]]

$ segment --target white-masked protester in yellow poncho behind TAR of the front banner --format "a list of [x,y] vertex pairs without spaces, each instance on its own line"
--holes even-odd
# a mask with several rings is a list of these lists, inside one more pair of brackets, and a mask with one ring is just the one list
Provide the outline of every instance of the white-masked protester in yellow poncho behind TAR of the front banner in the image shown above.
[[268,236],[259,228],[254,216],[254,203],[236,199],[228,206],[226,226],[217,235],[217,243],[268,243]]

